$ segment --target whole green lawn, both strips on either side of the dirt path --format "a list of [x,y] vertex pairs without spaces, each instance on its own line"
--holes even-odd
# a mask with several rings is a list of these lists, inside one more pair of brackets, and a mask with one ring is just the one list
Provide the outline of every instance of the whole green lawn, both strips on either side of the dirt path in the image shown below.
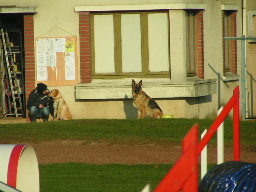
[[[146,143],[181,145],[182,139],[193,124],[199,124],[199,134],[201,134],[204,129],[211,126],[212,122],[213,120],[207,119],[180,118],[81,119],[34,124],[1,124],[0,144],[84,140],[84,142],[107,141],[112,144],[130,145]],[[256,122],[240,122],[242,148],[256,149],[255,129]],[[232,146],[232,139],[232,121],[225,120],[225,146]],[[216,145],[216,134],[210,145]],[[140,192],[150,183],[153,191],[171,166],[171,164],[40,164],[40,190],[41,192]]]

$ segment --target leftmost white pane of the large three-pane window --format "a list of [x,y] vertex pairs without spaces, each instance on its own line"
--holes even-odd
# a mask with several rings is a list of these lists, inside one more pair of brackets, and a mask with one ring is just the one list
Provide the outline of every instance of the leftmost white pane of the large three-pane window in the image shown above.
[[112,14],[94,15],[95,73],[114,73],[114,20]]

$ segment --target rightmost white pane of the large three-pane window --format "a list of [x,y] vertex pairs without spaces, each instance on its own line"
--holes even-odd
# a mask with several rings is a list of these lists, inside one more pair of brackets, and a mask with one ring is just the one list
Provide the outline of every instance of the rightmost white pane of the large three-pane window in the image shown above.
[[148,14],[148,54],[150,72],[169,71],[168,14]]

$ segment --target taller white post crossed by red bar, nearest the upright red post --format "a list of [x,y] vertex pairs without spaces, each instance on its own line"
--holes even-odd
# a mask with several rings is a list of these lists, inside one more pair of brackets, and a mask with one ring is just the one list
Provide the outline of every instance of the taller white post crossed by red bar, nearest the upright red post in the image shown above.
[[[222,112],[223,106],[218,110],[218,116]],[[222,122],[217,129],[217,164],[224,162],[224,123]]]

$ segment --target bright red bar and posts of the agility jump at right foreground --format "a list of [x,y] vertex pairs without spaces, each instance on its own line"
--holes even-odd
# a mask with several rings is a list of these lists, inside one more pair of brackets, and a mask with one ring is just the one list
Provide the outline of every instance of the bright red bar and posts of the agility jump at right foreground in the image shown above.
[[197,124],[184,137],[182,140],[182,155],[159,183],[154,192],[198,191],[198,156],[232,109],[234,161],[240,160],[239,86],[236,86],[233,96],[199,143]]

